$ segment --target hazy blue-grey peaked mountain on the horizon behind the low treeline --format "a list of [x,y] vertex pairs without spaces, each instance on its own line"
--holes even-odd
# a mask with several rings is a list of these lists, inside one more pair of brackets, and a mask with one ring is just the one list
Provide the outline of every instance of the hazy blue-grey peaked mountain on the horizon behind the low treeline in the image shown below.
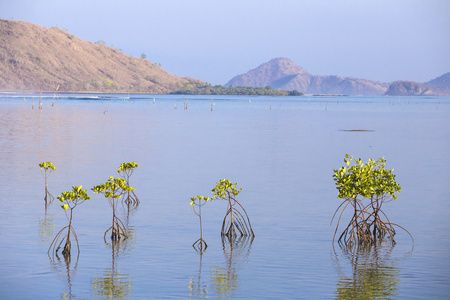
[[341,76],[312,75],[287,58],[275,58],[245,74],[233,77],[225,86],[271,86],[305,94],[383,95],[387,83]]

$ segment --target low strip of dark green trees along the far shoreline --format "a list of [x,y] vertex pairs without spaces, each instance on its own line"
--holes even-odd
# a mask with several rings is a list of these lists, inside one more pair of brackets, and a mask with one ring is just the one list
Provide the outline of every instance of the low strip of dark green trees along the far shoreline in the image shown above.
[[246,96],[303,96],[299,91],[274,90],[270,86],[263,87],[224,87],[223,85],[193,86],[188,84],[184,89],[172,92],[171,94],[183,95],[246,95]]

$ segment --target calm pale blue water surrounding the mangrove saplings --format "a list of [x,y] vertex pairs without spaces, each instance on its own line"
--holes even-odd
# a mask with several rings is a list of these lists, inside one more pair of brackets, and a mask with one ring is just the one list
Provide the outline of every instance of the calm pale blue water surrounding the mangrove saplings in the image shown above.
[[[0,95],[0,298],[448,299],[450,98],[215,96],[212,112],[211,97],[186,98],[184,110],[182,96],[59,95],[39,110],[38,97],[32,109],[31,95]],[[333,247],[345,153],[395,169],[402,192],[384,209],[414,244],[399,231],[395,247]],[[141,204],[119,211],[130,238],[103,241],[111,209],[89,191],[74,210],[79,259],[49,259],[67,219],[58,201],[45,208],[41,161],[56,165],[54,196],[139,163]],[[189,198],[222,178],[243,188],[256,237],[223,244],[226,203],[214,201],[200,255]]]

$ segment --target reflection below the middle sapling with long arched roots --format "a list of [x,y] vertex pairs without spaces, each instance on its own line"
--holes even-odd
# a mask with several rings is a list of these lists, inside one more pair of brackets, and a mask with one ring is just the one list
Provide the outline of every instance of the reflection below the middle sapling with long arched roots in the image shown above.
[[238,283],[236,265],[247,260],[253,240],[254,236],[240,236],[236,238],[222,236],[226,266],[215,266],[211,269],[211,285],[218,298],[234,296]]

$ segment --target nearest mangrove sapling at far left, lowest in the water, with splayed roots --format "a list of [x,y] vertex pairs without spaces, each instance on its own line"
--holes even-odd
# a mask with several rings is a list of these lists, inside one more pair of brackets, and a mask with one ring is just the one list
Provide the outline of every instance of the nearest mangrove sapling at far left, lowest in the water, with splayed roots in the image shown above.
[[[84,201],[91,199],[91,197],[88,196],[87,191],[83,190],[82,186],[80,185],[80,186],[73,186],[71,191],[61,193],[61,195],[57,197],[57,199],[63,203],[61,205],[61,208],[64,209],[64,212],[66,213],[66,217],[69,220],[69,225],[61,229],[56,234],[55,238],[50,244],[50,247],[48,248],[47,253],[50,255],[50,251],[52,251],[53,254],[57,254],[58,250],[61,248],[62,243],[65,241],[66,243],[64,244],[62,254],[64,256],[70,255],[70,250],[72,246],[72,243],[70,241],[70,233],[72,233],[73,237],[75,238],[75,241],[77,242],[78,255],[80,255],[80,246],[78,244],[77,234],[72,226],[73,209],[77,205],[83,203]],[[69,214],[67,213],[68,211]],[[66,229],[67,233],[63,235],[64,230]]]

